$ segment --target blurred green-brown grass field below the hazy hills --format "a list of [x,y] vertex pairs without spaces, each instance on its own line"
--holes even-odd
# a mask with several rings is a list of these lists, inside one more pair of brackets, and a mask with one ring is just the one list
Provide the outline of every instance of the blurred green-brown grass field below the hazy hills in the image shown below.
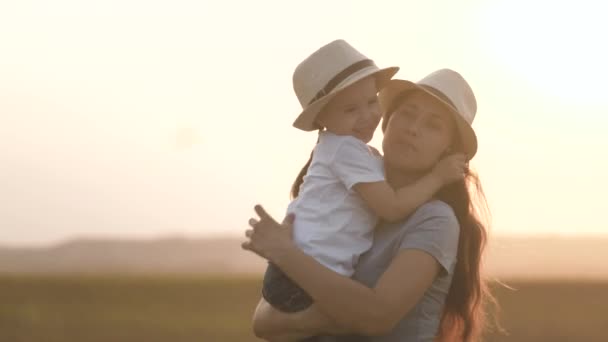
[[[608,283],[509,282],[509,336],[487,341],[608,341]],[[256,341],[258,279],[0,276],[0,342]]]

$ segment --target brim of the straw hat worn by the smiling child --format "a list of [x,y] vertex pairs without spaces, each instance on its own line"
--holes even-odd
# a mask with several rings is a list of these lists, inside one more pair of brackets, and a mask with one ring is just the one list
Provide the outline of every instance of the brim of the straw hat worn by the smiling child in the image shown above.
[[350,75],[330,93],[308,105],[300,113],[300,115],[298,115],[296,120],[293,122],[293,126],[304,131],[314,131],[316,129],[319,129],[319,127],[315,124],[315,119],[317,118],[317,115],[319,114],[321,109],[323,109],[323,107],[325,107],[325,105],[328,104],[329,101],[331,101],[331,99],[333,99],[341,91],[353,85],[355,82],[360,81],[368,76],[376,77],[378,89],[380,90],[384,87],[385,84],[387,84],[388,81],[390,81],[393,76],[395,76],[397,71],[399,71],[398,67],[390,67],[384,69],[378,69],[377,67],[368,67],[359,70],[358,72]]

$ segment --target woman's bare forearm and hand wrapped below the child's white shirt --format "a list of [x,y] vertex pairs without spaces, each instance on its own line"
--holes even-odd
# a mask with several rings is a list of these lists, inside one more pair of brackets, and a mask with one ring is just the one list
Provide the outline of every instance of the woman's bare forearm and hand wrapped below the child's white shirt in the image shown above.
[[260,221],[250,220],[254,229],[246,232],[250,241],[243,243],[243,248],[276,263],[311,295],[320,311],[354,333],[382,335],[391,331],[422,298],[441,269],[429,253],[402,250],[370,289],[325,268],[298,249],[291,239],[289,220],[281,225],[261,206],[255,210]]

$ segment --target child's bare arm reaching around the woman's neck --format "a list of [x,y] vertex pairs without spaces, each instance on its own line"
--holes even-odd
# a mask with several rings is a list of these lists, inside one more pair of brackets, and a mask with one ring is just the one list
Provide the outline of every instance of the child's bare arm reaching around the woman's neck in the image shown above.
[[452,155],[413,184],[394,190],[386,181],[357,183],[353,189],[376,215],[386,221],[398,221],[429,201],[446,184],[462,179],[465,157]]

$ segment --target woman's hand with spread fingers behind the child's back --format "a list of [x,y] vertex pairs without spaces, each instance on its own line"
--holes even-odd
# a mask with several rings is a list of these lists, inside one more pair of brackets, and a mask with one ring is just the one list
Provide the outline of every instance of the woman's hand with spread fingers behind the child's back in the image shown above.
[[245,231],[247,241],[241,245],[243,249],[252,251],[266,260],[275,261],[285,251],[296,248],[292,238],[293,214],[287,215],[283,223],[279,224],[261,205],[256,205],[254,209],[260,219],[249,219],[252,229]]

